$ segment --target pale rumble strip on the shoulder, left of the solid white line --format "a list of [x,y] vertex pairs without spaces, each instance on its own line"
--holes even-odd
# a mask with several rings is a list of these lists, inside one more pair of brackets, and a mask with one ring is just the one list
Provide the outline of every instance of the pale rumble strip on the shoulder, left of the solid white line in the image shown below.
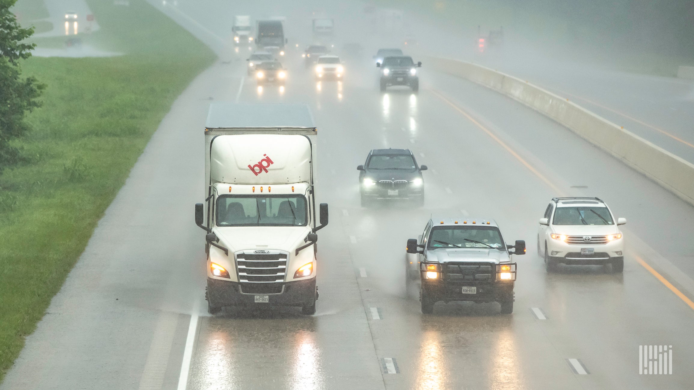
[[176,326],[178,326],[177,313],[163,312],[159,317],[152,344],[149,346],[147,360],[144,363],[144,370],[142,370],[142,377],[139,379],[139,390],[159,390],[162,388]]

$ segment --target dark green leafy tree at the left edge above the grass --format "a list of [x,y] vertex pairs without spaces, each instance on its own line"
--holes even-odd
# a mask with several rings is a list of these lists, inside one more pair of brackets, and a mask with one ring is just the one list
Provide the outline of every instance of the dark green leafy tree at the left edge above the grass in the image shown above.
[[33,77],[22,78],[19,62],[31,57],[36,45],[24,42],[34,28],[22,28],[10,12],[16,1],[0,0],[0,171],[19,160],[12,139],[28,130],[24,115],[40,107],[37,98],[45,88]]

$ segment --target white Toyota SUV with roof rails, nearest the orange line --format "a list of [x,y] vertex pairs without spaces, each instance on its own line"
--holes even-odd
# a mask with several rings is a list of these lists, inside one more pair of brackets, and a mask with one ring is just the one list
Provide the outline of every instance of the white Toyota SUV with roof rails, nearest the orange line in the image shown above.
[[540,218],[537,253],[545,259],[547,272],[557,263],[567,265],[612,265],[624,269],[624,239],[618,226],[627,223],[597,197],[552,198]]

